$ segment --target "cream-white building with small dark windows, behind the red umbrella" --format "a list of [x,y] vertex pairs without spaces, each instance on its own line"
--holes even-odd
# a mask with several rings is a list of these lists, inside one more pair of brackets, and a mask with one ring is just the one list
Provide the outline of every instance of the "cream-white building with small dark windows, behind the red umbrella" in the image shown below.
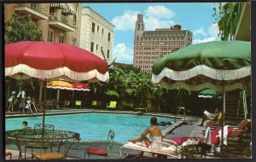
[[81,33],[79,46],[102,56],[102,51],[107,61],[112,60],[114,26],[102,15],[90,7],[83,7],[81,18]]

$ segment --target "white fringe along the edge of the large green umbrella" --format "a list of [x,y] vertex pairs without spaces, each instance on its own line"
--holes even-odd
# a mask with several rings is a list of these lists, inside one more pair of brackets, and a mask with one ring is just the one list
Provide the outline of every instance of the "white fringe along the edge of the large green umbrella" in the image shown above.
[[251,66],[250,67],[241,67],[234,70],[218,70],[205,65],[199,65],[185,71],[174,71],[167,67],[163,68],[160,74],[152,75],[152,82],[154,84],[160,83],[163,78],[170,78],[172,80],[187,80],[189,78],[194,78],[198,75],[204,75],[209,78],[217,80],[235,80],[238,78],[245,78],[251,75]]

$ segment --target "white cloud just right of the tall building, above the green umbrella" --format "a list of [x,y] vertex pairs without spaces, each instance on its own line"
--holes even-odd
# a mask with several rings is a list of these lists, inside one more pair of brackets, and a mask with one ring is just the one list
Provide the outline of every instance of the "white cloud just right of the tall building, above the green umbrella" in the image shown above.
[[193,31],[193,44],[195,43],[205,43],[210,41],[220,40],[218,37],[218,24],[212,24],[205,31],[202,27]]

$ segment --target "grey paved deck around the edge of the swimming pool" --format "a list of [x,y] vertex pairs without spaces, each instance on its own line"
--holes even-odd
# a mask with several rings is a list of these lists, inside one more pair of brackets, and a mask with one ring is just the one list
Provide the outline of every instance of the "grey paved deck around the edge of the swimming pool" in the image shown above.
[[[138,115],[151,115],[151,116],[159,116],[159,117],[167,117],[167,118],[176,118],[173,114],[168,113],[138,113],[133,111],[119,111],[119,110],[102,110],[102,109],[61,109],[61,110],[46,110],[45,115],[60,115],[60,114],[73,114],[73,113],[126,113],[126,114],[138,114]],[[43,115],[43,113],[38,113],[38,116]],[[5,114],[5,118],[19,118],[19,117],[30,117],[31,114],[20,114],[20,113],[12,113],[7,112]],[[204,127],[197,126],[201,123],[201,119],[186,116],[183,119],[183,116],[177,116],[176,123],[170,125],[165,130],[163,130],[163,134],[166,139],[172,137],[182,137],[182,136],[196,136],[196,134],[200,134]],[[99,147],[102,148],[104,145],[102,142],[80,142],[79,146],[76,149],[69,150],[67,154],[67,159],[84,159],[84,150],[85,148],[90,147]],[[114,143],[113,150],[110,157],[107,159],[120,159],[119,148],[122,146],[122,143]],[[12,159],[18,159],[19,152],[17,151],[17,147],[15,145],[7,145],[7,149],[11,150],[13,153]],[[132,151],[131,151],[132,153]],[[134,152],[137,153],[137,152]],[[7,157],[8,159],[9,157]],[[86,158],[87,159],[87,158]],[[104,157],[100,156],[90,156],[90,159],[104,159]]]

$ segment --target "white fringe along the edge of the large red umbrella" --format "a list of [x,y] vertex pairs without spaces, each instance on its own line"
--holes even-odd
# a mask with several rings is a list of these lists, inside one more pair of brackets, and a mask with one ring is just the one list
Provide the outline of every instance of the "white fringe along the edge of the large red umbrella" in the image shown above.
[[60,76],[67,76],[76,81],[91,80],[107,82],[109,79],[109,73],[101,73],[96,69],[89,72],[73,72],[68,67],[60,67],[53,70],[39,70],[29,67],[25,64],[20,64],[15,67],[5,67],[5,76],[13,76],[15,74],[24,73],[32,78],[58,78]]

